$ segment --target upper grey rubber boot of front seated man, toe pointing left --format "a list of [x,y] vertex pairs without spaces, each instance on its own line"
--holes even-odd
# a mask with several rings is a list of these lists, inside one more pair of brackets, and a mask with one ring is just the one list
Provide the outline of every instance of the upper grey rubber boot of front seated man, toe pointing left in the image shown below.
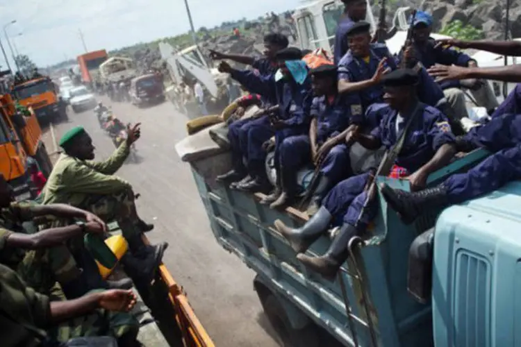
[[329,211],[322,207],[301,228],[288,228],[280,219],[277,219],[274,225],[288,240],[293,251],[303,253],[327,230],[332,218]]

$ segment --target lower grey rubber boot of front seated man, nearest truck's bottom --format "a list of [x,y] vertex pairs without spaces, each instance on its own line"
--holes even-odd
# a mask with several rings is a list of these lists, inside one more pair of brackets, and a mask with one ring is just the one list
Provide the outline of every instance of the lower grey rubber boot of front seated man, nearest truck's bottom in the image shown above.
[[333,281],[340,266],[349,257],[347,245],[354,236],[356,236],[356,228],[351,224],[345,223],[324,255],[321,257],[309,257],[304,253],[299,253],[297,254],[297,259],[308,269],[320,273],[327,280]]

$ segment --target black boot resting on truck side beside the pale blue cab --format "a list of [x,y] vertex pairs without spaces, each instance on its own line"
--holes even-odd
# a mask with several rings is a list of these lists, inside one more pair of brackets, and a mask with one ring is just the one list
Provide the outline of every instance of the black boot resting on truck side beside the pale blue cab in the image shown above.
[[449,205],[445,185],[420,190],[420,192],[404,192],[383,185],[381,192],[392,210],[398,212],[404,224],[411,224],[420,214],[433,208],[444,208]]

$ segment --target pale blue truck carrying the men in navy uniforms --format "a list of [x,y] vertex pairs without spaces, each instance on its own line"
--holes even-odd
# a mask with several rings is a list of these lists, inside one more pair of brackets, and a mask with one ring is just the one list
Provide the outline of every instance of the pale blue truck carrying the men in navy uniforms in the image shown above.
[[[346,245],[349,259],[330,282],[306,269],[274,228],[276,219],[301,226],[305,212],[295,206],[271,210],[259,203],[263,194],[216,182],[231,169],[222,127],[186,137],[176,151],[190,164],[213,236],[256,272],[254,289],[284,346],[518,346],[518,182],[433,209],[413,225],[402,223],[378,196],[377,218]],[[429,176],[428,187],[488,155],[477,149],[454,158]],[[410,189],[406,179],[377,180]],[[305,180],[300,184],[306,187]],[[324,254],[337,230],[323,235],[308,255]],[[324,344],[326,339],[331,341]]]

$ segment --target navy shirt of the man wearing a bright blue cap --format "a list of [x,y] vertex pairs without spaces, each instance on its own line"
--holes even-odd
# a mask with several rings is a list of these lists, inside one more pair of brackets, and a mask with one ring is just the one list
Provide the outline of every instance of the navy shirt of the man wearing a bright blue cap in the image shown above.
[[[433,38],[429,38],[427,44],[421,46],[415,44],[414,48],[416,51],[416,58],[422,62],[426,69],[435,65],[456,65],[461,67],[468,67],[468,63],[472,60],[470,56],[456,49],[445,48],[443,46],[436,47]],[[444,81],[440,83],[442,89],[448,89],[452,87],[461,87],[459,81]]]

